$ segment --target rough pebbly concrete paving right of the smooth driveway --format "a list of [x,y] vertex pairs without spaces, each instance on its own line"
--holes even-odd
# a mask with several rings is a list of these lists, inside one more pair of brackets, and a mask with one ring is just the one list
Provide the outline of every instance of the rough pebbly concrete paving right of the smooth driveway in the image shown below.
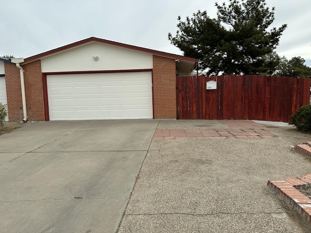
[[[267,189],[268,180],[310,173],[310,159],[293,150],[310,134],[252,124],[161,120],[118,232],[310,233],[311,225]],[[273,136],[238,138],[232,131],[247,128]],[[232,136],[205,136],[208,130]]]

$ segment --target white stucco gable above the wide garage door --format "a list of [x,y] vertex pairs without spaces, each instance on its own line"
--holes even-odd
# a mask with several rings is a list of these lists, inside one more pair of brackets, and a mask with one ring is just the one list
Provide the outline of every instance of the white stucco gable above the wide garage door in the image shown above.
[[[93,57],[98,57],[95,60]],[[92,41],[41,58],[42,72],[151,69],[150,53]]]

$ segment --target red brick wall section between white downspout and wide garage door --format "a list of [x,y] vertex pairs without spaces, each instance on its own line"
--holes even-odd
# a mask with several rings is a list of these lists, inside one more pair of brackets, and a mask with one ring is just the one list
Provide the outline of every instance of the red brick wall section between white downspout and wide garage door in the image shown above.
[[41,61],[22,66],[25,77],[27,115],[29,121],[44,120]]

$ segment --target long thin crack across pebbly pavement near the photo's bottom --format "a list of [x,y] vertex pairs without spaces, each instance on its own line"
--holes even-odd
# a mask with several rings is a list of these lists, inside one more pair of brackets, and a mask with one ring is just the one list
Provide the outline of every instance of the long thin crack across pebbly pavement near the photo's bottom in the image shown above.
[[274,214],[284,214],[285,212],[237,212],[237,213],[228,213],[228,212],[218,212],[218,213],[211,213],[211,214],[191,214],[191,213],[157,213],[157,214],[125,214],[127,216],[160,216],[160,215],[185,215],[185,216],[197,216],[197,217],[205,217],[205,216],[217,216],[217,215],[274,215]]

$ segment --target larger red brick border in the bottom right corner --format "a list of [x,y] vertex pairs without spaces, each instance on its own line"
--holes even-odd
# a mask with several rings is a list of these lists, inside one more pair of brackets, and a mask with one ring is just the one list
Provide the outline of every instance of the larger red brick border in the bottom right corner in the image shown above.
[[268,189],[284,200],[308,222],[311,223],[311,199],[303,195],[297,188],[311,186],[311,174],[298,178],[271,180],[267,183]]

